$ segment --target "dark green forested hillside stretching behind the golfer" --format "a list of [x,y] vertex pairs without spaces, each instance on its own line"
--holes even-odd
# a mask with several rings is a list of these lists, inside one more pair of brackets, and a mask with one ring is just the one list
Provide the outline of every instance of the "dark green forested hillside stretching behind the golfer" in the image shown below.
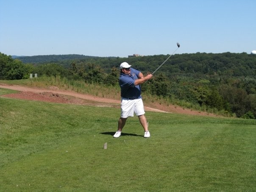
[[[105,86],[117,85],[119,65],[127,61],[144,73],[153,72],[168,57],[33,56],[27,64],[0,55],[0,79],[28,78],[29,73],[59,75]],[[75,57],[78,56],[78,57]],[[24,58],[24,57],[22,57]],[[40,59],[39,59],[40,58]],[[23,60],[24,61],[24,60]],[[49,61],[49,62],[48,62]],[[175,54],[142,85],[142,90],[166,99],[178,99],[237,117],[256,118],[256,55],[247,53]]]

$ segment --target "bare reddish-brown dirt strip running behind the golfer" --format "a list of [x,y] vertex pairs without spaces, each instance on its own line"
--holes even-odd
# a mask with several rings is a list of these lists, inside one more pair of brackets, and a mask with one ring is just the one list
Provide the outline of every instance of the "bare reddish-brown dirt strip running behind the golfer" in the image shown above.
[[[96,97],[92,95],[86,95],[78,92],[61,90],[58,87],[38,88],[38,87],[26,87],[19,85],[7,85],[0,83],[0,88],[13,89],[19,91],[19,93],[2,95],[2,97],[12,97],[26,100],[38,100],[54,103],[72,103],[78,105],[90,105],[90,106],[109,106],[120,108],[120,100]],[[203,115],[203,116],[216,116],[202,111],[192,111],[191,109],[183,109],[178,106],[163,106],[161,104],[152,103],[145,106],[145,111],[165,112],[165,113],[178,113],[189,115]]]

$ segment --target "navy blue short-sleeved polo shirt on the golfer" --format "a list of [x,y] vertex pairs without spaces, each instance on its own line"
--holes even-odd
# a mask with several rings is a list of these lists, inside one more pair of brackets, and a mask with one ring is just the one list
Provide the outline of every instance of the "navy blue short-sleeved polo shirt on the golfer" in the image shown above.
[[122,72],[119,77],[119,85],[121,88],[121,97],[128,99],[137,99],[141,95],[140,85],[134,85],[134,81],[138,79],[140,71],[131,68],[131,74],[125,75]]

